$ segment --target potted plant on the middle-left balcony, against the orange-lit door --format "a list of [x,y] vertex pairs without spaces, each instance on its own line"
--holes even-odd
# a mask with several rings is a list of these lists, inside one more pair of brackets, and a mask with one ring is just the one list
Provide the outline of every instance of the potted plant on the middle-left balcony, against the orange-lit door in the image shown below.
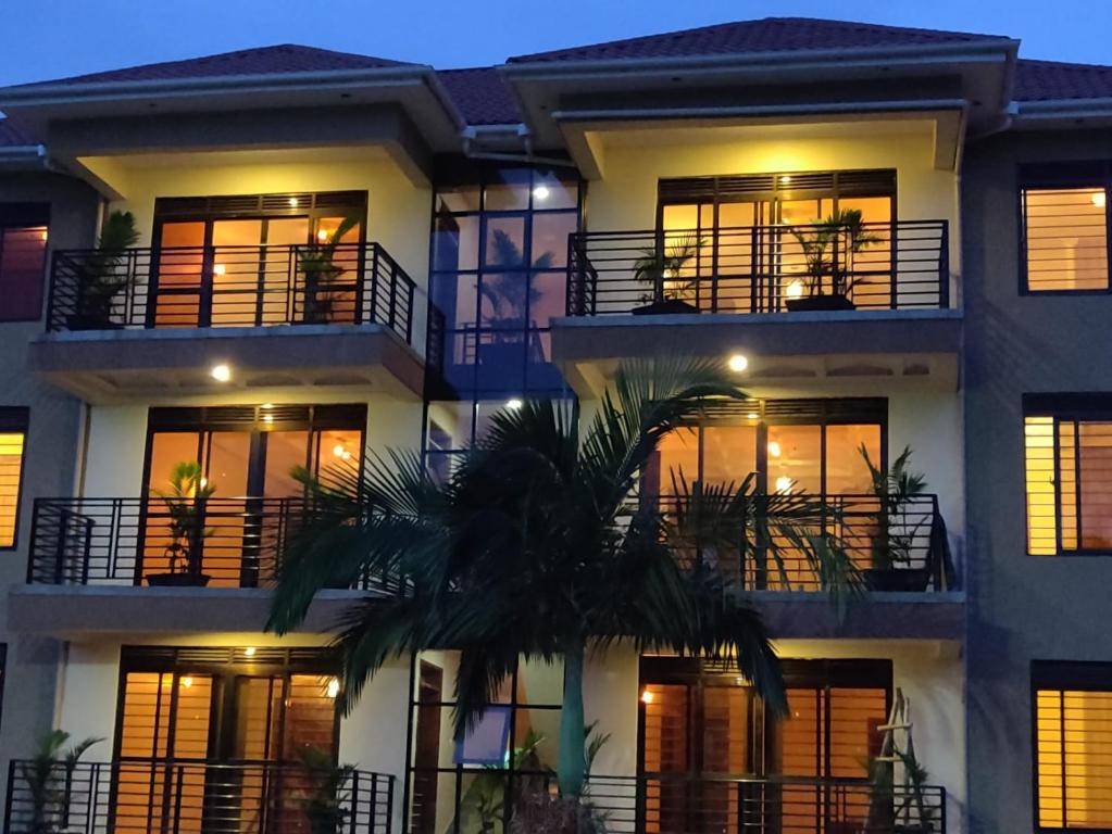
[[205,526],[205,511],[216,485],[205,480],[197,461],[182,461],[170,472],[170,489],[152,492],[166,502],[169,516],[167,532],[170,543],[166,546],[166,559],[170,570],[147,574],[147,583],[163,586],[207,585],[211,577],[201,573],[201,549],[214,531]]

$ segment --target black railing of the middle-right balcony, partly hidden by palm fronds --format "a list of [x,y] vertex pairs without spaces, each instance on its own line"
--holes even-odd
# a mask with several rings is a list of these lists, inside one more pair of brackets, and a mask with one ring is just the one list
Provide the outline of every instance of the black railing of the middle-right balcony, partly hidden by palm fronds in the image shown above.
[[[925,592],[954,586],[937,495],[914,495],[898,503],[872,494],[756,495],[752,506],[736,511],[736,535],[727,530],[713,542],[687,535],[686,531],[705,530],[693,516],[697,501],[662,496],[655,504],[677,533],[676,554],[683,564],[711,566],[747,590],[821,591],[828,584],[810,540],[794,535],[800,532],[835,540],[866,589]],[[724,539],[733,542],[728,550]]]

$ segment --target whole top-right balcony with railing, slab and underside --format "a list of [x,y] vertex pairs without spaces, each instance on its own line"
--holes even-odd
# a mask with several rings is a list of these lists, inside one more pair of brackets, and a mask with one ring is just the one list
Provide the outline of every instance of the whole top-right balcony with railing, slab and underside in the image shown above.
[[944,220],[597,231],[568,243],[553,354],[583,395],[662,348],[743,351],[749,378],[914,376],[953,389],[960,312]]

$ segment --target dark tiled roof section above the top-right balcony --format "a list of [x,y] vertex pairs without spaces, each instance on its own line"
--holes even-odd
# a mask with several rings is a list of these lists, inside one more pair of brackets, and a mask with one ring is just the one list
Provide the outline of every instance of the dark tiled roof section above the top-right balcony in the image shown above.
[[593,43],[572,49],[510,58],[510,63],[538,61],[600,61],[619,58],[687,58],[758,52],[915,47],[1009,40],[1003,36],[947,32],[935,29],[853,23],[816,18],[763,18],[718,23],[699,29]]

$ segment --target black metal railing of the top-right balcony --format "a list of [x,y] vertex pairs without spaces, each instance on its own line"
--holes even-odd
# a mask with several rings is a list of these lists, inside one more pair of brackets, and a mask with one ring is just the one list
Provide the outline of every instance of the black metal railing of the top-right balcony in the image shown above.
[[[579,232],[568,315],[940,310],[951,305],[944,220]],[[672,307],[661,302],[672,302]],[[646,309],[655,305],[656,309]]]

